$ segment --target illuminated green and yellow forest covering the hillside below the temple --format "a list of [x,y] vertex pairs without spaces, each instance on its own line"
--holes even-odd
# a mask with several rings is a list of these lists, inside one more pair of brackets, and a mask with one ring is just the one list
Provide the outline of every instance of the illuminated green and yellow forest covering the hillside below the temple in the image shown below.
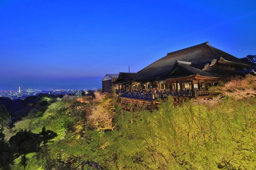
[[0,106],[2,170],[256,169],[256,76],[172,97],[152,112],[123,112],[115,94],[41,94],[14,124]]

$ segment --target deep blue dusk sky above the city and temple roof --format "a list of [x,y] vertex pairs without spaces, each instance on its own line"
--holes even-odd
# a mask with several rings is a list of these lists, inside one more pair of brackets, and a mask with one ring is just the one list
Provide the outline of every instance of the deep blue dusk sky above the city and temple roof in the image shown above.
[[256,0],[0,0],[0,89],[101,87],[206,41],[256,54]]

